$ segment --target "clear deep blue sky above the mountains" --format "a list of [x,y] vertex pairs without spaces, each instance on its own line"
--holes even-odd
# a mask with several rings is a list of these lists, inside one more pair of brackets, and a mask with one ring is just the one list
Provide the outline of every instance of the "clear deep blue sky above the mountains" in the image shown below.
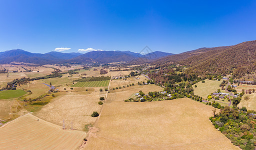
[[180,53],[256,39],[256,0],[0,0],[0,51]]

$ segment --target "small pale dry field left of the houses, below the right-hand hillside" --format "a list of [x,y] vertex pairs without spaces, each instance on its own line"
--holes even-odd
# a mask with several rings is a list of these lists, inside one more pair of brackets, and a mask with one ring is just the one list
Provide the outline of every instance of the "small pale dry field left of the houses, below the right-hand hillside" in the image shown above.
[[207,95],[209,95],[212,92],[215,92],[219,87],[219,84],[222,82],[222,80],[209,80],[205,79],[205,83],[202,83],[201,81],[195,83],[194,85],[197,85],[197,87],[194,87],[194,94],[202,96],[203,98],[207,98]]

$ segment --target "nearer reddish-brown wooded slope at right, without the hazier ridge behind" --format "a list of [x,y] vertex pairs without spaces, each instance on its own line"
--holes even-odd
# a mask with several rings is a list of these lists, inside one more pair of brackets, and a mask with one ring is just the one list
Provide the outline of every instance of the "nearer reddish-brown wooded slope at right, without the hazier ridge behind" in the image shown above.
[[178,63],[189,66],[188,72],[199,74],[228,74],[241,77],[256,69],[256,40],[216,48]]

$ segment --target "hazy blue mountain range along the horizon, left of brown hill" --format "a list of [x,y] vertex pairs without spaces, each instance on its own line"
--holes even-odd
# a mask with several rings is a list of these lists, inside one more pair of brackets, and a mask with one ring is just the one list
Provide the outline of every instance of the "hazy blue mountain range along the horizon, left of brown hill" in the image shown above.
[[172,53],[154,51],[147,54],[140,54],[131,51],[90,51],[87,53],[70,52],[62,53],[51,51],[47,53],[32,53],[22,49],[12,49],[0,52],[0,63],[24,62],[35,64],[51,64],[51,63],[109,63],[119,61],[131,61],[138,58],[147,60],[157,59],[163,56],[172,55]]

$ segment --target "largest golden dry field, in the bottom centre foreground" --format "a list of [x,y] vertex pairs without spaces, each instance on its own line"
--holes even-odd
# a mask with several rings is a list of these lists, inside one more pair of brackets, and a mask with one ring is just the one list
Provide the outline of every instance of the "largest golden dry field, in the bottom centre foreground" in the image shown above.
[[239,149],[211,124],[211,110],[188,98],[106,103],[84,149]]

